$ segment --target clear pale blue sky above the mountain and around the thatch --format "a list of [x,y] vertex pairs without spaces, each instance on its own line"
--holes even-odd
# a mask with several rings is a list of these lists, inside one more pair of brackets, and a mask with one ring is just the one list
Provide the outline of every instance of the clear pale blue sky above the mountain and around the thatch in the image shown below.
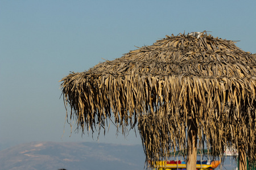
[[[60,82],[166,35],[209,32],[256,53],[256,1],[0,1],[0,144],[97,140],[65,124]],[[71,137],[70,137],[71,135]]]

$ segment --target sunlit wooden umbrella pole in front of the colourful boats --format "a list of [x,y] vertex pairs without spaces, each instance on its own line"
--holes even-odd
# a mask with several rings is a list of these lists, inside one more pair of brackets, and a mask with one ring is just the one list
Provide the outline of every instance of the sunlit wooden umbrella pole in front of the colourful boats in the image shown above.
[[187,169],[196,170],[197,125],[195,118],[188,120]]

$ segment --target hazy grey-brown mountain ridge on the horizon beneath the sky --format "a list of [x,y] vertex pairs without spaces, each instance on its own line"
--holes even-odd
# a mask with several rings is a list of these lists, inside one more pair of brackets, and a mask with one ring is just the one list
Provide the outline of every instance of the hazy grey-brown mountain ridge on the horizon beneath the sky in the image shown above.
[[31,142],[0,151],[0,169],[143,169],[141,145]]

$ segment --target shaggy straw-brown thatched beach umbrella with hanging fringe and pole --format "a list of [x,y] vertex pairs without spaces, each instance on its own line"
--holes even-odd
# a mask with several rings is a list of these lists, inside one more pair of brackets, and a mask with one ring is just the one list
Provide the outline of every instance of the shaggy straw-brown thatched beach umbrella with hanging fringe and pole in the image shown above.
[[166,36],[61,81],[77,128],[105,131],[113,118],[125,133],[138,123],[146,160],[187,147],[195,169],[204,141],[214,154],[232,146],[255,159],[256,56],[233,41]]

